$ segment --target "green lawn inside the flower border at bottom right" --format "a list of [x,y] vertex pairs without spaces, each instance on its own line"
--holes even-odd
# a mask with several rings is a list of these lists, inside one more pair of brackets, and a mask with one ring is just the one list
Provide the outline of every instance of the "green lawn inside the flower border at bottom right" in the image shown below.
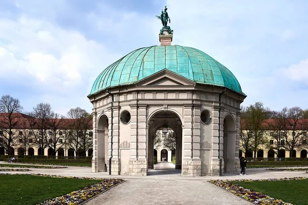
[[306,205],[308,201],[308,179],[290,181],[233,181],[232,183],[296,205]]

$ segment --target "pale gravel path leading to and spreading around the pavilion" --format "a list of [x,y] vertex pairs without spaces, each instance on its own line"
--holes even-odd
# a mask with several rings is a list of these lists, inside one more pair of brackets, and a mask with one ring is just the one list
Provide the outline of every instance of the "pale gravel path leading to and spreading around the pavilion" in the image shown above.
[[[0,162],[3,163],[3,162]],[[21,165],[21,164],[20,164]],[[26,173],[41,173],[62,176],[123,178],[126,181],[109,191],[94,197],[90,204],[252,204],[207,182],[209,179],[267,179],[304,176],[305,171],[269,171],[266,168],[247,169],[246,176],[226,174],[225,176],[182,177],[170,163],[161,163],[158,170],[151,170],[148,176],[109,176],[106,172],[92,173],[89,167],[68,167],[64,169],[29,168]],[[0,172],[18,173],[25,172]]]

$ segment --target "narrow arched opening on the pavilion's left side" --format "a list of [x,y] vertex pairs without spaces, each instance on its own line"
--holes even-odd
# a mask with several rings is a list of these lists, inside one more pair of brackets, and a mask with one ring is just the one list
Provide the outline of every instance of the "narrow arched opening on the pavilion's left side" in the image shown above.
[[105,172],[108,160],[108,117],[106,115],[102,115],[98,120],[97,146],[98,163],[95,169]]

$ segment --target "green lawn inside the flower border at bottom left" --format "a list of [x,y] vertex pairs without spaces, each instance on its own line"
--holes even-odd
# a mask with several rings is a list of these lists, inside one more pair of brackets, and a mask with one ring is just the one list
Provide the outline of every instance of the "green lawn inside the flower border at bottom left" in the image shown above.
[[0,204],[36,204],[98,183],[100,180],[0,175]]

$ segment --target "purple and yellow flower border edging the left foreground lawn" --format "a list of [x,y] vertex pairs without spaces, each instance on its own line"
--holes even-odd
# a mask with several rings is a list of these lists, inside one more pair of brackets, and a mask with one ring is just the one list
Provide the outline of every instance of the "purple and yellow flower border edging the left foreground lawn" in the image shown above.
[[[4,175],[8,173],[0,173],[0,175]],[[42,205],[54,205],[54,204],[70,204],[70,205],[77,205],[90,198],[105,192],[106,190],[110,189],[111,187],[118,185],[119,183],[123,182],[123,179],[100,179],[100,178],[88,178],[88,177],[71,177],[71,176],[57,176],[57,175],[47,175],[47,174],[27,174],[27,175],[34,175],[34,176],[42,176],[42,177],[55,177],[55,178],[75,178],[75,179],[95,179],[95,180],[102,180],[99,183],[95,183],[94,185],[90,185],[78,191],[73,191],[69,194],[59,196],[53,199],[46,200],[42,203]]]

